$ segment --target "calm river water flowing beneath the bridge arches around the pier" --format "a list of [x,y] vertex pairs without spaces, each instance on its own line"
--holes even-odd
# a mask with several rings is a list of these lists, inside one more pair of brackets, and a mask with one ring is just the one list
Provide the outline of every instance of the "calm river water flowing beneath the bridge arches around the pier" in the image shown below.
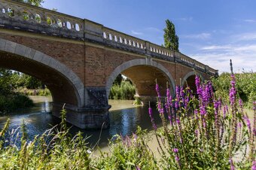
[[[5,125],[8,118],[11,119],[10,129],[17,129],[24,120],[29,138],[32,139],[35,135],[41,135],[45,130],[60,122],[58,118],[49,113],[51,97],[32,96],[32,99],[35,102],[34,107],[0,115],[0,129]],[[148,107],[133,107],[133,101],[130,100],[109,100],[109,105],[112,105],[110,127],[109,129],[103,129],[100,137],[100,130],[82,130],[75,126],[72,126],[71,133],[74,135],[80,130],[84,133],[84,136],[90,136],[88,142],[91,145],[96,144],[96,141],[100,138],[99,145],[103,147],[108,144],[108,139],[115,134],[131,135],[136,131],[137,126],[141,126],[142,129],[152,129]],[[155,109],[153,111],[156,123],[160,124],[157,111]]]

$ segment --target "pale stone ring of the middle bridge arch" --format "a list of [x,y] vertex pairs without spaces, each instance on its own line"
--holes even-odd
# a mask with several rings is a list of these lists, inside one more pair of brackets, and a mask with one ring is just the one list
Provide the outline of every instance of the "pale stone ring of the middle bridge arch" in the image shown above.
[[[146,58],[146,59],[133,59],[128,62],[123,62],[123,64],[115,68],[114,71],[112,71],[112,73],[108,77],[108,80],[105,86],[107,97],[109,96],[111,86],[118,74],[126,75],[126,72],[129,69],[132,70],[133,68],[139,68],[139,67],[147,67],[148,70],[155,69],[155,71],[158,71],[159,73],[163,74],[166,77],[166,80],[168,80],[171,85],[172,94],[175,93],[175,80],[173,79],[169,71],[165,67],[163,67],[163,65],[161,65],[160,63],[154,62],[151,59]],[[127,77],[131,78],[129,75]],[[133,81],[132,78],[131,80]],[[157,82],[158,82],[158,79],[157,79]],[[163,88],[164,90],[166,90],[166,85]],[[154,91],[154,89],[155,89],[154,87],[151,88],[152,91]],[[136,90],[136,93],[137,93],[137,90]]]

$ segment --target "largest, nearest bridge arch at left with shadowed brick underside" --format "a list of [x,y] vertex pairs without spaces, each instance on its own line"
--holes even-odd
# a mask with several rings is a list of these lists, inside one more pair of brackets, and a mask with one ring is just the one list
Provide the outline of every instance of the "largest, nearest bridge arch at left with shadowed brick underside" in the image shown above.
[[80,78],[66,65],[38,50],[0,38],[0,67],[43,80],[53,102],[84,106],[84,84]]

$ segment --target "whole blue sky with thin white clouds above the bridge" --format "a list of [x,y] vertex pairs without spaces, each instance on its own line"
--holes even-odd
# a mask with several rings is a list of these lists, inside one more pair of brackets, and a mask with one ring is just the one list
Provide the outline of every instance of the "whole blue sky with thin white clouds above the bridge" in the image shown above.
[[44,8],[93,20],[163,44],[165,20],[175,24],[179,49],[220,72],[256,71],[254,0],[45,0]]

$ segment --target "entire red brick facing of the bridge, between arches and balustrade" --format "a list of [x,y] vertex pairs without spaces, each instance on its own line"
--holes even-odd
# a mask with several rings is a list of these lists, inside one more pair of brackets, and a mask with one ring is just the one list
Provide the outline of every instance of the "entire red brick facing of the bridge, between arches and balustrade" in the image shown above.
[[[105,87],[109,75],[121,65],[133,59],[143,57],[128,53],[120,53],[117,50],[108,50],[105,47],[84,46],[82,43],[72,41],[53,41],[47,38],[35,38],[21,35],[0,33],[0,38],[23,44],[35,50],[39,50],[54,59],[59,60],[71,68],[80,77],[85,87]],[[85,60],[84,60],[85,59]],[[154,60],[163,65],[172,75],[177,84],[192,68],[181,64]],[[206,79],[209,76],[201,73]]]

